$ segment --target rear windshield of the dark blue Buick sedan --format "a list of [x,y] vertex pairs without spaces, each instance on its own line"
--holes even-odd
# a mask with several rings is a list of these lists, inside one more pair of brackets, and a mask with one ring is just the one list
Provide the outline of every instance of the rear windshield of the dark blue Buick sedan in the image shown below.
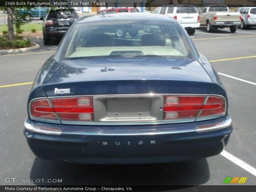
[[89,57],[194,58],[176,22],[115,20],[76,24],[63,44],[62,60]]

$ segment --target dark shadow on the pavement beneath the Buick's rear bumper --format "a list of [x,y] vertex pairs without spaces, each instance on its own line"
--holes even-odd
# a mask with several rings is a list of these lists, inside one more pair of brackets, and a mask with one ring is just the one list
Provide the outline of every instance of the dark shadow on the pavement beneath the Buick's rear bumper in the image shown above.
[[62,179],[62,183],[37,185],[201,185],[209,177],[206,158],[168,164],[85,165],[36,157],[30,172],[33,180]]

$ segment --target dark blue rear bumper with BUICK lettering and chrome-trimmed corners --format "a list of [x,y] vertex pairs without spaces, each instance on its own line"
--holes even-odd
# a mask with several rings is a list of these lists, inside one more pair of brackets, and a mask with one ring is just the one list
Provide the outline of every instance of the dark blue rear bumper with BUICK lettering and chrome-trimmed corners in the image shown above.
[[[212,129],[198,132],[198,126]],[[26,119],[24,135],[33,153],[44,159],[85,164],[148,164],[220,154],[232,130],[228,116],[146,126],[61,125]]]

